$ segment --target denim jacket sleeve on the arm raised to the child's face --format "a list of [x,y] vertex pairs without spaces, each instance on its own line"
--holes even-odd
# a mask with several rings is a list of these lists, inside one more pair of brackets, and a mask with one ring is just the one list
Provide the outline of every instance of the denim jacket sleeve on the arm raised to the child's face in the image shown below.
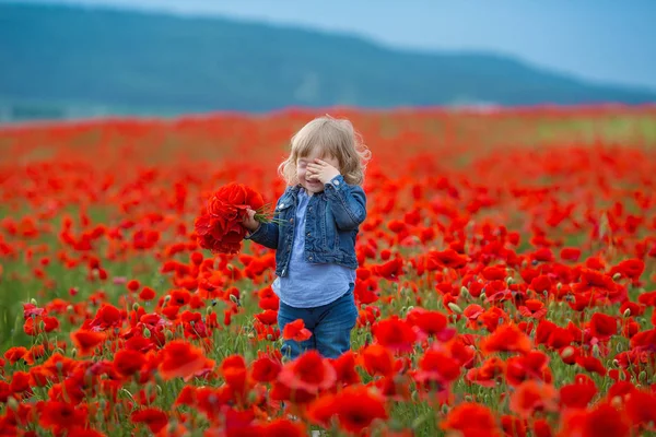
[[366,196],[360,186],[348,185],[342,175],[333,177],[324,188],[337,227],[353,231],[366,218]]

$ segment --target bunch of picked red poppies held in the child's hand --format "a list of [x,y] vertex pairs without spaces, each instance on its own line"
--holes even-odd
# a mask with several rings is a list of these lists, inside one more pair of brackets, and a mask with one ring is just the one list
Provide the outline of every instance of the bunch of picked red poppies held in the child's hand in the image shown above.
[[242,225],[248,209],[256,212],[259,222],[273,221],[261,194],[254,189],[236,182],[219,188],[194,223],[200,247],[213,253],[237,253],[248,232]]

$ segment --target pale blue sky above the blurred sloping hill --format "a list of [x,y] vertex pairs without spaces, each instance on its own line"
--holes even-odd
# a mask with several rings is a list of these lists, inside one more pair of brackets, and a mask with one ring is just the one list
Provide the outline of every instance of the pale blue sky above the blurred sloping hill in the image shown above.
[[493,51],[599,83],[656,90],[656,0],[28,2],[215,14],[358,34],[396,48]]

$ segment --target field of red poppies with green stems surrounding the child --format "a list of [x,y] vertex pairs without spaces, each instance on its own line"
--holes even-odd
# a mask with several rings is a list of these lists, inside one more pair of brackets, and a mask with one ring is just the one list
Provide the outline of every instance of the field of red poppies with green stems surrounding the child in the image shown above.
[[656,108],[333,110],[372,151],[352,352],[281,359],[274,203],[323,113],[0,129],[1,436],[656,435]]

